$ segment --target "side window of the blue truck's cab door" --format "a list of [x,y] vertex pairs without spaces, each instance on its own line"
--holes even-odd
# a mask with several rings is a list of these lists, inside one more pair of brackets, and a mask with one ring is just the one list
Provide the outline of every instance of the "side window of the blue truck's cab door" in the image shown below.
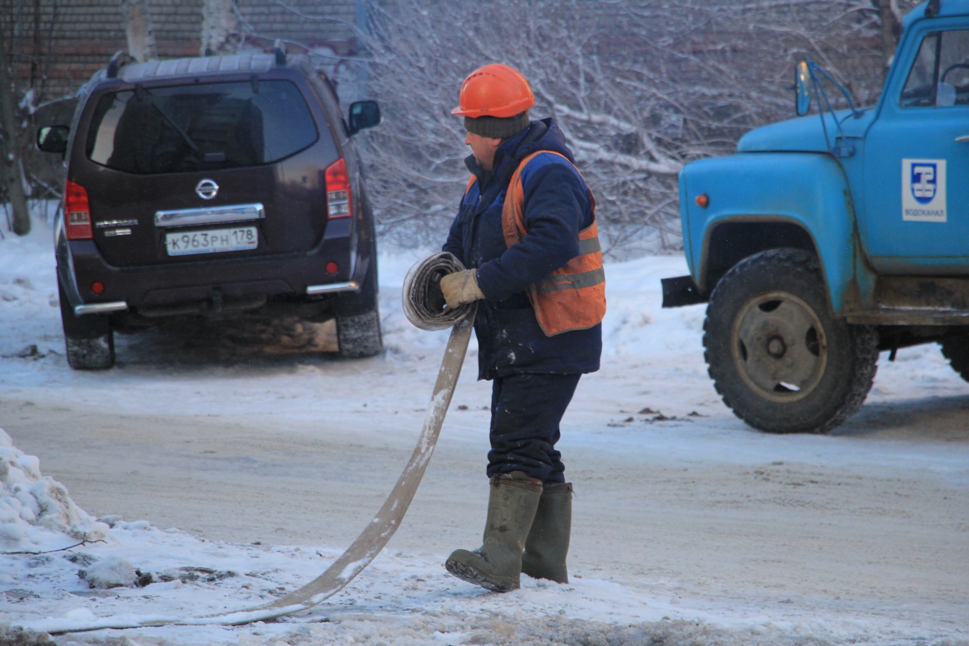
[[899,105],[902,108],[969,105],[969,30],[925,35]]

